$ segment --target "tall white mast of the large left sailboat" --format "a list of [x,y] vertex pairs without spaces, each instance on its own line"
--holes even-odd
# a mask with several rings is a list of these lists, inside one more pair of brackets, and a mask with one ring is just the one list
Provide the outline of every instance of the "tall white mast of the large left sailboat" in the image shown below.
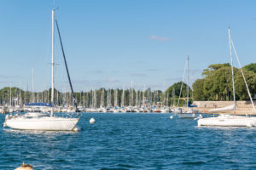
[[55,90],[55,82],[54,82],[54,71],[55,71],[55,59],[54,59],[54,54],[55,54],[55,10],[51,10],[51,112],[50,116],[53,116],[53,111],[54,111],[54,90]]

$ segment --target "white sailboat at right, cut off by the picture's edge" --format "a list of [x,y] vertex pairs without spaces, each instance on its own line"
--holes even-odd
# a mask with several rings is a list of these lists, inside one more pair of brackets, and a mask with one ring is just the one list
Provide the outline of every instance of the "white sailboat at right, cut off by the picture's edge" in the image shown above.
[[[235,82],[234,82],[234,71],[233,71],[233,59],[232,59],[232,47],[234,48],[234,52],[236,54],[236,48],[234,47],[234,44],[230,37],[230,28],[229,28],[229,40],[230,40],[230,59],[231,59],[231,71],[232,71],[232,87],[233,87],[233,98],[234,98],[234,104],[226,106],[224,108],[217,108],[210,111],[234,111],[234,115],[224,115],[220,114],[217,117],[207,117],[207,118],[201,118],[198,120],[198,126],[218,126],[218,127],[255,127],[256,126],[256,117],[250,117],[250,116],[236,116],[236,93],[235,93]],[[241,70],[241,64],[239,62],[239,59],[236,54],[236,59],[240,65]],[[243,71],[241,70],[242,77],[244,79],[244,82],[246,83],[247,87],[247,93],[250,97],[250,100],[253,105],[253,110],[255,110],[253,99],[251,97],[249,88],[247,86],[246,79],[244,77]]]

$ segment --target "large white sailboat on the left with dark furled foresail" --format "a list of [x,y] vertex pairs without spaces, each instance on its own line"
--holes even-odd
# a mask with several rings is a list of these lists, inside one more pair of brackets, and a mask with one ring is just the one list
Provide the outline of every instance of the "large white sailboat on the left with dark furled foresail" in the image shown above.
[[[79,122],[79,118],[74,118],[74,117],[59,117],[59,116],[54,116],[54,66],[55,66],[55,60],[54,60],[54,26],[55,26],[55,10],[51,11],[52,14],[52,79],[51,79],[51,112],[50,115],[45,113],[29,113],[25,115],[7,115],[5,117],[5,122],[4,126],[11,127],[13,129],[22,129],[22,130],[56,130],[56,131],[69,131],[73,130],[77,123]],[[57,22],[56,22],[56,26]],[[57,27],[58,28],[58,27]],[[59,30],[58,30],[59,31]],[[60,32],[59,32],[59,37],[60,37]],[[61,40],[61,37],[60,37]],[[62,43],[61,43],[61,48],[62,48]],[[65,54],[62,48],[62,53],[63,57],[65,60],[66,64],[66,69],[67,69],[67,62],[65,59]],[[67,70],[67,76],[70,82],[70,77],[69,73]],[[70,82],[71,89],[72,84]],[[74,102],[75,103],[75,102]],[[76,104],[75,104],[76,105]],[[77,105],[76,105],[77,106]]]

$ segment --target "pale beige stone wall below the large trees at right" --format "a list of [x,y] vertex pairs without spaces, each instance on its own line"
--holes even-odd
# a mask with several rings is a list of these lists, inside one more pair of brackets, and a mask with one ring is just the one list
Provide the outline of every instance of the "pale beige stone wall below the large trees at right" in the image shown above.
[[[228,105],[233,105],[233,101],[194,101],[193,105],[197,105],[195,110],[201,111],[203,113],[209,113],[209,110],[215,108],[221,108]],[[256,101],[253,101],[256,105]],[[225,113],[233,113],[233,111],[226,111]],[[253,114],[256,115],[256,111],[253,111],[253,105],[251,101],[236,101],[236,114],[246,115]]]

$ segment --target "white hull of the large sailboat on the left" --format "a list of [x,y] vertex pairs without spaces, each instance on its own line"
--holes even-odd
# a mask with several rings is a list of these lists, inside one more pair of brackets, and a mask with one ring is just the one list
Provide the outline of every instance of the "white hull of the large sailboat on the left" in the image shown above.
[[7,127],[20,130],[70,131],[76,127],[79,118],[64,117],[16,117],[6,120]]

